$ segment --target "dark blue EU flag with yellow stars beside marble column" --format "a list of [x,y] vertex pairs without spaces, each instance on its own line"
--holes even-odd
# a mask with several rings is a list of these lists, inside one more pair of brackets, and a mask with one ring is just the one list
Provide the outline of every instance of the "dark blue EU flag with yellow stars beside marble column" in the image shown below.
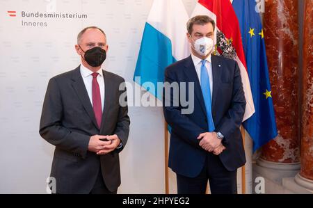
[[255,0],[234,0],[232,6],[239,20],[255,104],[255,113],[243,122],[243,127],[252,138],[253,152],[255,152],[278,135],[271,84],[268,77],[264,33]]

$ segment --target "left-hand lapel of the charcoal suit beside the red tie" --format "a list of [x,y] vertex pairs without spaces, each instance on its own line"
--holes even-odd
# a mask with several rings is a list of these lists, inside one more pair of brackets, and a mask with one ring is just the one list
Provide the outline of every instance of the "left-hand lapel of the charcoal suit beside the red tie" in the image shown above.
[[77,93],[77,96],[81,101],[81,104],[83,104],[84,109],[87,111],[95,127],[99,129],[99,127],[97,126],[97,121],[95,119],[95,113],[93,112],[93,106],[90,103],[85,83],[83,83],[83,78],[81,77],[80,66],[74,70],[72,81],[73,81],[72,86],[75,92]]

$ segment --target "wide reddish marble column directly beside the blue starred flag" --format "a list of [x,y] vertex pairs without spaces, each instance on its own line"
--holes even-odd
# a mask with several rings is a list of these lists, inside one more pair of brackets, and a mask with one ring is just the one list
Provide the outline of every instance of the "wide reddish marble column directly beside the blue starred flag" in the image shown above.
[[278,136],[262,147],[259,166],[300,168],[298,0],[268,0],[263,19]]

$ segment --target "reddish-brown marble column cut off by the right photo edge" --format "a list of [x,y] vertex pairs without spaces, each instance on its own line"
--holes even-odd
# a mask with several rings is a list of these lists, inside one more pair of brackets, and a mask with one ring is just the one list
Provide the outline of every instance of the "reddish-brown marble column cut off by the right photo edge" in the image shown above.
[[295,180],[313,190],[313,0],[305,0],[303,17],[303,77],[300,174]]

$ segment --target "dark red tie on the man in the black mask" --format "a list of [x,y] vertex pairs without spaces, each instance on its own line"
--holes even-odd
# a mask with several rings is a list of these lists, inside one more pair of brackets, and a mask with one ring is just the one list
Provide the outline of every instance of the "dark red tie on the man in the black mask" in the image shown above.
[[97,81],[98,73],[95,72],[92,75],[93,75],[93,112],[95,113],[97,125],[100,128],[102,121],[102,106],[101,106],[100,88],[99,83]]

